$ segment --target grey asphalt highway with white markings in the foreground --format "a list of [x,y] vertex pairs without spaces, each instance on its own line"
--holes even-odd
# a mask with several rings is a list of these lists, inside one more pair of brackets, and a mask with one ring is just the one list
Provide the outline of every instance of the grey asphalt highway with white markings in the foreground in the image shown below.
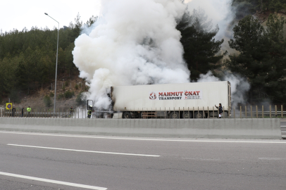
[[286,189],[286,140],[0,132],[0,189]]

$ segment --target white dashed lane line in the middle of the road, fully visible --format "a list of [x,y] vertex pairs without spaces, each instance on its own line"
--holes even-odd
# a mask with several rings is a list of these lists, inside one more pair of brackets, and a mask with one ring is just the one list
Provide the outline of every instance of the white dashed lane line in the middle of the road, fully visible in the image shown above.
[[84,151],[84,150],[76,150],[76,149],[67,149],[67,148],[52,148],[52,147],[44,147],[44,146],[28,146],[21,144],[7,144],[8,146],[23,146],[30,148],[46,148],[46,149],[54,149],[60,151],[75,151],[75,152],[85,152],[85,153],[108,153],[108,154],[119,154],[119,155],[128,155],[128,156],[147,156],[147,157],[160,157],[158,155],[148,155],[148,154],[137,154],[137,153],[112,153],[112,152],[102,152],[102,151]]

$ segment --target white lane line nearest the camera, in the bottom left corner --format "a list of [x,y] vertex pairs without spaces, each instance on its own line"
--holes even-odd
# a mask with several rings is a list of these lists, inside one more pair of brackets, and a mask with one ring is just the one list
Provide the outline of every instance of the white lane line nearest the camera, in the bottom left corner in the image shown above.
[[30,179],[30,180],[35,180],[35,181],[39,181],[39,182],[47,182],[47,183],[52,183],[52,184],[76,186],[76,187],[86,188],[86,189],[97,189],[97,190],[106,190],[107,189],[105,187],[100,187],[100,186],[90,186],[90,185],[85,185],[85,184],[74,184],[74,183],[70,183],[70,182],[61,182],[61,181],[56,181],[56,180],[52,180],[52,179],[30,177],[30,176],[26,176],[26,175],[16,175],[16,174],[11,174],[11,173],[6,173],[6,172],[0,172],[0,175],[6,175],[6,176],[10,176],[10,177],[18,177],[18,178],[22,178],[22,179]]

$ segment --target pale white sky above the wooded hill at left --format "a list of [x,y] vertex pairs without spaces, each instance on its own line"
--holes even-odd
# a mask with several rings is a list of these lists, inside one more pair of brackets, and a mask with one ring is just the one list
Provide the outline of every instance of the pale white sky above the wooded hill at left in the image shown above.
[[92,15],[99,13],[99,0],[8,0],[1,1],[0,6],[0,30],[2,32],[13,29],[23,30],[24,27],[30,30],[31,27],[58,27],[56,21],[68,26],[74,20],[77,13],[80,13],[81,20],[86,23]]

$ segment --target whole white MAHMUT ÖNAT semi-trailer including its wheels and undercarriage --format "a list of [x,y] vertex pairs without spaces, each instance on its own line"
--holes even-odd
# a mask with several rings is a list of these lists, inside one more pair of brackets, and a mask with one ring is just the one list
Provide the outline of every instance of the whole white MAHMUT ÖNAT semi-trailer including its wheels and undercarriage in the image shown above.
[[111,87],[111,99],[113,118],[207,118],[218,115],[218,103],[230,113],[231,86],[224,81]]

